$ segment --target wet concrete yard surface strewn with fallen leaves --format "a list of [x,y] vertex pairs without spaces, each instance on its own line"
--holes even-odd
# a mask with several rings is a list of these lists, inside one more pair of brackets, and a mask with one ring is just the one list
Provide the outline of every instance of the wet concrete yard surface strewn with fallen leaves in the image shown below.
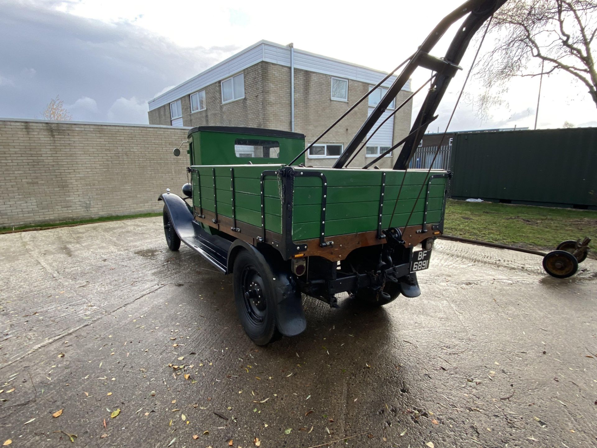
[[595,446],[597,262],[581,268],[438,241],[417,299],[306,298],[306,331],[261,348],[232,278],[168,251],[161,218],[0,235],[0,443]]

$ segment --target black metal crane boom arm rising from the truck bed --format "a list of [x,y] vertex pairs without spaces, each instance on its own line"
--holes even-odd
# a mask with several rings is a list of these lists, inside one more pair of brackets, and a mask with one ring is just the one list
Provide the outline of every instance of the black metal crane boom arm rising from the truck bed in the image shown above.
[[[346,150],[340,155],[333,167],[342,168],[346,165],[346,162],[350,159],[353,152],[356,151],[365,137],[367,137],[367,133],[371,131],[371,128],[376,124],[381,114],[386,111],[387,106],[392,103],[393,99],[408,82],[413,75],[414,70],[417,67],[423,67],[436,72],[436,76],[432,88],[430,88],[429,93],[427,94],[427,98],[423,101],[423,108],[418,113],[413,128],[411,128],[410,135],[404,142],[402,151],[394,165],[395,170],[404,170],[408,165],[411,155],[417,149],[417,143],[420,140],[420,136],[425,133],[427,124],[432,121],[433,115],[448,88],[448,84],[450,84],[450,79],[453,78],[457,70],[460,69],[458,64],[460,64],[460,61],[469,46],[470,39],[473,38],[485,20],[491,17],[501,5],[506,3],[506,1],[507,0],[468,0],[448,14],[448,16],[444,17],[435,29],[432,30],[429,36],[427,36],[423,45],[418,48],[410,62],[408,62],[404,69],[402,69],[402,72],[398,75],[396,81],[393,82],[392,86],[387,90],[387,93],[377,104],[373,112],[371,112],[371,115],[365,120],[361,129],[359,129],[350,143],[346,146]],[[439,39],[441,39],[450,26],[464,16],[467,17],[462,26],[458,29],[456,36],[454,36],[445,57],[439,59],[438,57],[431,56],[429,51],[435,47]]]

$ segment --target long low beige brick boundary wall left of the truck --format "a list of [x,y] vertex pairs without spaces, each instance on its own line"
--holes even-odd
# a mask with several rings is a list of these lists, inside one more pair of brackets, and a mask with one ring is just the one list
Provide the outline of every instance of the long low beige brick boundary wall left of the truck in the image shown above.
[[0,120],[0,227],[160,211],[186,128]]

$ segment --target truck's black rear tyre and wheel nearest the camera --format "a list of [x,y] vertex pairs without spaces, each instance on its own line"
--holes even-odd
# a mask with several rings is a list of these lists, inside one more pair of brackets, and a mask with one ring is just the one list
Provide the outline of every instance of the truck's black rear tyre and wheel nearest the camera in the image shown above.
[[257,345],[267,345],[280,336],[276,328],[273,286],[259,263],[247,250],[238,254],[233,267],[236,311],[247,336]]

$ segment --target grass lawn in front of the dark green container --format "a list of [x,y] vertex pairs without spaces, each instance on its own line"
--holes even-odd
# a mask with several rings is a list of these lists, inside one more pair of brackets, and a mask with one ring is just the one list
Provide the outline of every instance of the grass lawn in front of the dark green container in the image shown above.
[[449,200],[445,233],[456,237],[555,250],[564,240],[589,237],[597,259],[597,211]]

